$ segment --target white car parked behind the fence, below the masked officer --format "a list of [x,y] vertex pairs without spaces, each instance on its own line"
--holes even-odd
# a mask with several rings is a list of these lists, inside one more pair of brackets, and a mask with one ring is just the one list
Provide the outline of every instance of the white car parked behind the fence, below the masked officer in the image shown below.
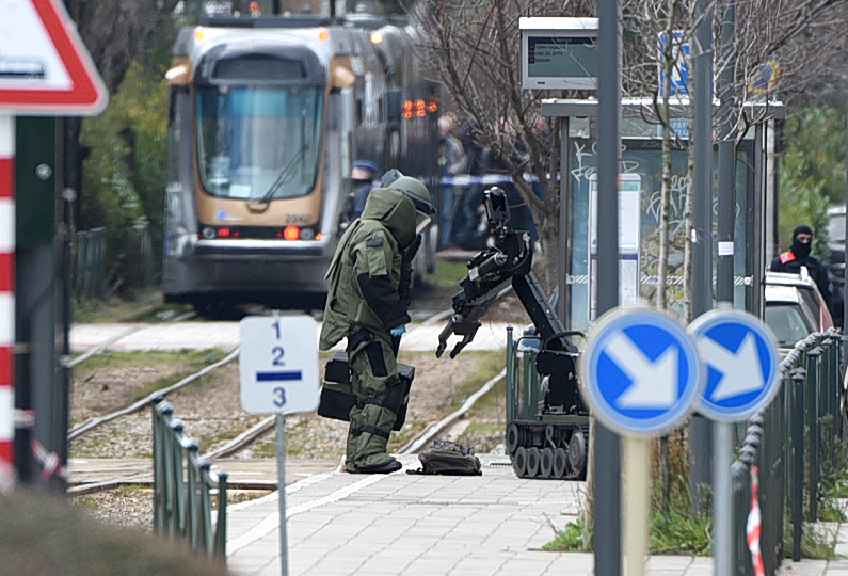
[[792,348],[810,334],[833,327],[827,303],[806,268],[800,274],[766,272],[765,300],[766,324],[780,348]]

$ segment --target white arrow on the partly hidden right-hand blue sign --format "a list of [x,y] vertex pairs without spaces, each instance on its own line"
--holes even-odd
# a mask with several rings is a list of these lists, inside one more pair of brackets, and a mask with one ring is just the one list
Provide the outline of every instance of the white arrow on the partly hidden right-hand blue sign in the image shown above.
[[698,339],[698,350],[704,362],[723,374],[713,390],[714,401],[741,396],[765,387],[753,332],[748,332],[736,352],[731,352],[709,336]]

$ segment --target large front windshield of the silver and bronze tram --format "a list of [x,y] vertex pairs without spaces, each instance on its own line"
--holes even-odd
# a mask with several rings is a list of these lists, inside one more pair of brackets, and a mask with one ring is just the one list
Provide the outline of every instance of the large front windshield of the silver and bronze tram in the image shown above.
[[213,196],[270,202],[309,193],[318,172],[322,91],[197,88],[200,173]]

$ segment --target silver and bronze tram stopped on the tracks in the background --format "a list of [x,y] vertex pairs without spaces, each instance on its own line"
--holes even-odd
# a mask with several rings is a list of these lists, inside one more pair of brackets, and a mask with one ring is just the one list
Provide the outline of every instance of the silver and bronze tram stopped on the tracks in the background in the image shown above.
[[322,306],[353,161],[435,182],[437,89],[416,37],[368,17],[180,31],[166,75],[166,302],[208,317],[240,303]]

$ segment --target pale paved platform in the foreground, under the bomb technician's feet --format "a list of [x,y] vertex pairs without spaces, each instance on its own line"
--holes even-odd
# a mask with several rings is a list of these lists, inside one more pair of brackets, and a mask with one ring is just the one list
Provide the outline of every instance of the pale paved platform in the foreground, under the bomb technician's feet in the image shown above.
[[[400,457],[404,469],[415,456]],[[590,553],[540,548],[577,519],[582,482],[516,478],[484,454],[479,477],[325,473],[286,490],[290,576],[589,576]],[[228,509],[228,567],[282,573],[277,494]],[[837,553],[848,552],[840,527]],[[654,556],[645,576],[712,576],[711,558]],[[786,561],[783,575],[848,576],[848,560]]]

